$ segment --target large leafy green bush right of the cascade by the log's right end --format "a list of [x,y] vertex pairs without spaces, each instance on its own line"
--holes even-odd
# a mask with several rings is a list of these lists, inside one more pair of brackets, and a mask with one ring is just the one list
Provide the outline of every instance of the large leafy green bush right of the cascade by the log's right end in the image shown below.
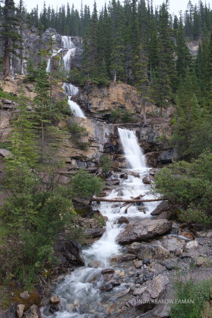
[[155,176],[152,191],[168,197],[175,205],[181,205],[181,220],[209,225],[212,222],[211,176],[212,153],[205,150],[190,163],[179,161],[169,168],[162,168]]

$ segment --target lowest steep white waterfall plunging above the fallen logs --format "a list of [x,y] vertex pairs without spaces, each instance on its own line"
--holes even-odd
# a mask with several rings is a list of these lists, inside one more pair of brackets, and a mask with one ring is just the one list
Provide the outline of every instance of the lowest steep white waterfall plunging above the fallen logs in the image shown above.
[[145,156],[137,142],[135,130],[118,128],[118,131],[129,167],[133,170],[144,170]]

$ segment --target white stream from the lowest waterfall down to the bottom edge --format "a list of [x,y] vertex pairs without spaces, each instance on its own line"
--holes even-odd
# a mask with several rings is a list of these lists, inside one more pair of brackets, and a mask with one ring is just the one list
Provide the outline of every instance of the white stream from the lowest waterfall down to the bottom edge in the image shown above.
[[[153,198],[148,193],[149,186],[142,182],[143,176],[148,174],[148,168],[135,132],[119,128],[119,135],[127,161],[131,167],[131,169],[125,171],[130,173],[132,169],[137,169],[140,177],[128,175],[127,179],[120,179],[120,184],[112,191],[108,191],[107,198],[129,199],[131,196],[136,197],[141,193],[145,194],[145,199]],[[119,178],[120,176],[117,175],[116,177]],[[133,204],[127,209],[127,214],[124,211],[125,207],[120,208],[121,203],[101,202],[100,204],[93,204],[93,209],[99,209],[102,215],[108,217],[106,232],[94,244],[83,249],[86,264],[84,267],[77,267],[73,272],[58,277],[54,281],[52,289],[61,298],[60,309],[58,312],[51,314],[49,312],[50,305],[48,305],[42,310],[43,317],[104,318],[106,309],[112,302],[119,306],[120,299],[116,300],[116,298],[117,293],[126,289],[123,282],[120,286],[113,287],[110,292],[99,290],[103,283],[103,275],[101,274],[103,268],[113,266],[115,270],[121,269],[120,263],[109,263],[110,257],[127,252],[126,248],[117,244],[115,240],[116,236],[126,226],[126,224],[118,224],[117,220],[123,215],[131,222],[151,217],[150,213],[157,204],[157,202],[148,202],[145,203],[145,206]]]

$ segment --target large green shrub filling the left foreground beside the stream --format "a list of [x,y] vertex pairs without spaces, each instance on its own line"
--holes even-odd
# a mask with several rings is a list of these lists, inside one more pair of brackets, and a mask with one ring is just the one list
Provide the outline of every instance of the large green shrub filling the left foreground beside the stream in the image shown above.
[[58,267],[54,245],[59,232],[65,235],[69,229],[69,239],[82,236],[82,230],[72,231],[72,197],[58,183],[59,168],[51,167],[49,179],[43,181],[23,163],[8,169],[3,179],[9,197],[0,208],[0,272],[15,275],[26,287],[45,269]]

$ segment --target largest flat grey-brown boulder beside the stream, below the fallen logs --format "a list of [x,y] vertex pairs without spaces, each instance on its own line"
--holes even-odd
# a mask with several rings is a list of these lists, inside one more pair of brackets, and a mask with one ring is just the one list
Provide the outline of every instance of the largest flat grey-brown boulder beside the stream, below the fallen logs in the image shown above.
[[154,220],[143,219],[133,224],[128,224],[115,240],[118,243],[129,243],[133,241],[147,241],[157,235],[164,234],[172,228],[172,221],[166,219]]

